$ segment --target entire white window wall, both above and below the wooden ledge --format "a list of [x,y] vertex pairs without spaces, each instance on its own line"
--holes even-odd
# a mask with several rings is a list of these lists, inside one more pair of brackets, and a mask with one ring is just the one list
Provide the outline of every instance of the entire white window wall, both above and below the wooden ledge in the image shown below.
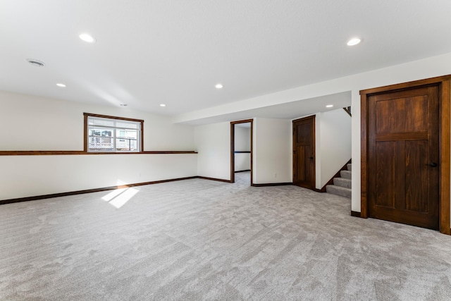
[[[144,120],[144,150],[194,150],[194,127],[113,106],[0,92],[0,150],[82,151],[83,112]],[[197,154],[0,156],[0,199],[197,176]]]

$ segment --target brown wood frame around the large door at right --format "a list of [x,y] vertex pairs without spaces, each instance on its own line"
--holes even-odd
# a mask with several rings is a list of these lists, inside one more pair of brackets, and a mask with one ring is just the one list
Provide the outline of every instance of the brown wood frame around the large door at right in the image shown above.
[[438,143],[439,143],[439,191],[438,191],[438,228],[440,233],[451,235],[450,229],[450,115],[451,115],[451,75],[428,78],[426,80],[416,80],[413,82],[404,82],[396,85],[376,87],[360,91],[361,105],[361,199],[360,199],[360,217],[368,218],[369,202],[368,193],[368,142],[369,142],[369,124],[368,124],[368,101],[371,94],[382,92],[395,92],[408,90],[414,87],[428,85],[438,85],[439,102],[439,122],[438,122]]

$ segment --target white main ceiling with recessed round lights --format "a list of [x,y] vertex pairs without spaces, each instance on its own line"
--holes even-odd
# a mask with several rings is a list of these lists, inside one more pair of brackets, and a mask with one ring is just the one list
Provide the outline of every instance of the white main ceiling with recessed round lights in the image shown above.
[[[445,0],[0,0],[0,90],[175,116],[450,52],[450,11]],[[322,111],[319,100],[298,109]]]

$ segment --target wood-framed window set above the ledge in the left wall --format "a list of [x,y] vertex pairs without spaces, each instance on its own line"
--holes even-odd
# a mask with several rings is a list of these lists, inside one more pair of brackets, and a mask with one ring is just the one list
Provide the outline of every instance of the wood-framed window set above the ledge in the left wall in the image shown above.
[[142,127],[139,119],[83,113],[85,152],[142,152]]

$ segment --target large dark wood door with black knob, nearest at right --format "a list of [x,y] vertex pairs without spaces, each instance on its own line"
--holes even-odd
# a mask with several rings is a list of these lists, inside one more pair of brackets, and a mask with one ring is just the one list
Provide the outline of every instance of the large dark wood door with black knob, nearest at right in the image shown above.
[[369,216],[438,229],[438,86],[368,103]]

